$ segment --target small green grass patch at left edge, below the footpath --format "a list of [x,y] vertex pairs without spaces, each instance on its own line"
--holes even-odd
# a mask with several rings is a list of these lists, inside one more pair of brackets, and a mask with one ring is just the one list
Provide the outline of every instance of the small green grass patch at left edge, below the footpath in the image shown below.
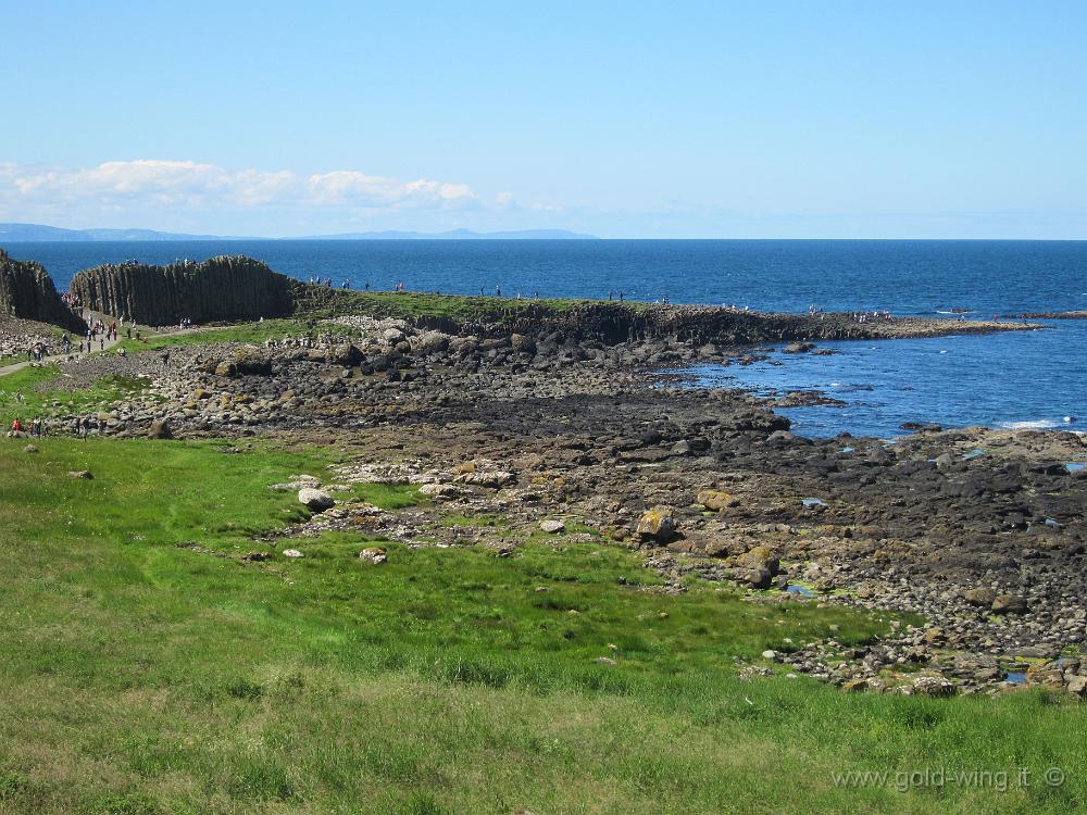
[[38,416],[108,410],[143,389],[141,379],[104,376],[93,387],[77,390],[50,388],[61,369],[54,364],[21,368],[0,376],[0,423],[4,430],[16,417],[24,424]]

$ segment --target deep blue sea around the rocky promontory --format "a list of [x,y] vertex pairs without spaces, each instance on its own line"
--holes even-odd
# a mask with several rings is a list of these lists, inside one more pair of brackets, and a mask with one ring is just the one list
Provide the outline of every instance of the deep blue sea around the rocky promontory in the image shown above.
[[[758,311],[889,311],[954,319],[1087,310],[1087,241],[1001,240],[209,240],[12,243],[58,288],[82,268],[246,254],[335,286],[503,297],[623,297]],[[830,355],[682,372],[701,387],[842,402],[782,409],[797,432],[892,438],[902,424],[1087,430],[1087,319],[1042,330],[824,342]]]

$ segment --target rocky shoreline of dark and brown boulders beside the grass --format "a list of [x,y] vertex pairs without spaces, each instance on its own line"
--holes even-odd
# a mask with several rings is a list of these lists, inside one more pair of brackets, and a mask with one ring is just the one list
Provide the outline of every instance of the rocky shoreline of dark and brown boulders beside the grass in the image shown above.
[[[332,505],[292,537],[365,529],[516,556],[524,536],[561,546],[563,530],[580,529],[641,551],[665,591],[699,576],[752,602],[925,620],[862,649],[795,643],[748,675],[779,664],[849,690],[1082,694],[1087,472],[1069,465],[1087,461],[1085,439],[980,428],[924,428],[891,444],[805,439],[747,393],[655,373],[748,354],[728,342],[609,344],[342,316],[263,346],[175,349],[168,364],[104,354],[62,368],[68,387],[147,379],[86,417],[103,435],[274,435],[349,453],[302,485],[328,488]],[[335,500],[336,485],[360,479],[420,485],[433,504],[386,513]],[[500,521],[458,528],[442,523],[450,514]]]

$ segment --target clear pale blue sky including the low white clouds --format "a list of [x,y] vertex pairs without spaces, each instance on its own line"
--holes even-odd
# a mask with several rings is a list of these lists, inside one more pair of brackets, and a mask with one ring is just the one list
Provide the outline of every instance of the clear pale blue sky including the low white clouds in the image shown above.
[[1082,0],[0,0],[0,222],[1087,238]]

